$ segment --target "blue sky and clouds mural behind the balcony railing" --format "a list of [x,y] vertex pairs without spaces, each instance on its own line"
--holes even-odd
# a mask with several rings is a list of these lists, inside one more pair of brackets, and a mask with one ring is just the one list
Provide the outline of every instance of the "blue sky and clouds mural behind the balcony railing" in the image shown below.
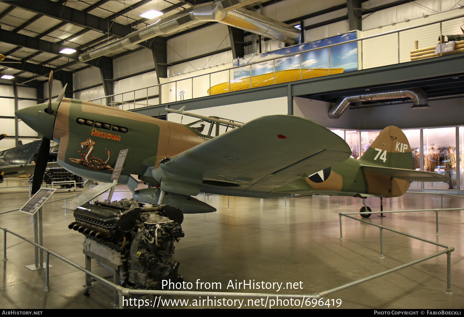
[[[293,45],[283,49],[263,53],[255,56],[234,59],[234,66],[241,66],[234,70],[234,79],[240,79],[250,76],[258,76],[263,74],[272,73],[274,71],[274,61],[269,60],[276,57],[282,57],[275,60],[276,71],[280,70],[294,70],[300,68],[329,68],[329,48],[311,51],[303,54],[285,57],[286,55],[308,51],[314,48],[323,47],[331,44],[337,44],[356,39],[356,32],[348,32],[345,34],[337,35],[331,38],[324,38],[318,41]],[[358,70],[358,44],[348,43],[337,45],[330,48],[330,68],[343,68],[344,73],[348,71]],[[263,61],[262,63],[247,65]]]

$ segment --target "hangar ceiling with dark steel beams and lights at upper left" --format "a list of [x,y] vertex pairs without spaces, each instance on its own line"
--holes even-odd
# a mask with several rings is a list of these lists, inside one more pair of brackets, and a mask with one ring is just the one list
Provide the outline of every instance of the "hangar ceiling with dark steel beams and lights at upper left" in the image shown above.
[[[269,1],[276,0],[260,0],[257,4]],[[14,75],[17,83],[37,86],[37,82],[47,80],[50,70],[54,71],[55,79],[63,81],[83,67],[110,68],[111,57],[140,47],[152,50],[150,43],[145,41],[87,63],[79,62],[77,57],[155,23],[159,18],[140,17],[148,10],[168,16],[204,2],[209,0],[0,1],[0,53],[6,56],[0,64],[0,74]],[[176,33],[180,32],[189,32],[189,29]],[[66,47],[76,52],[60,53]]]

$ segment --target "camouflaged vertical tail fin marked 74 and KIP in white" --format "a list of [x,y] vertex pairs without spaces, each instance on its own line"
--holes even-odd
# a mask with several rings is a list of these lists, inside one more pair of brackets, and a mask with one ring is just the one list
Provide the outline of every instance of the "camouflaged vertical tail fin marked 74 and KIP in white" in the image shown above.
[[360,161],[365,165],[412,169],[411,146],[398,127],[383,129]]

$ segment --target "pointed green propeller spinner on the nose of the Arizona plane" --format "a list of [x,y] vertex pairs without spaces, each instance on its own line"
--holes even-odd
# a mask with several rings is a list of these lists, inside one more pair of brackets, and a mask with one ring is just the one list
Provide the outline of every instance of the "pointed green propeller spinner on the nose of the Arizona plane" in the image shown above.
[[17,110],[14,114],[34,131],[45,136],[47,139],[53,137],[53,127],[59,102],[52,102],[53,114],[47,114],[45,109],[48,103],[41,103],[28,108]]

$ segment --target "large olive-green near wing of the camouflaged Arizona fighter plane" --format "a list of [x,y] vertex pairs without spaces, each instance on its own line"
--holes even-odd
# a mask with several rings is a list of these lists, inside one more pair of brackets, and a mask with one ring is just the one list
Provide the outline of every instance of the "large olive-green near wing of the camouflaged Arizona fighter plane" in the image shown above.
[[163,160],[153,175],[158,180],[267,193],[350,155],[342,138],[316,122],[271,115]]

